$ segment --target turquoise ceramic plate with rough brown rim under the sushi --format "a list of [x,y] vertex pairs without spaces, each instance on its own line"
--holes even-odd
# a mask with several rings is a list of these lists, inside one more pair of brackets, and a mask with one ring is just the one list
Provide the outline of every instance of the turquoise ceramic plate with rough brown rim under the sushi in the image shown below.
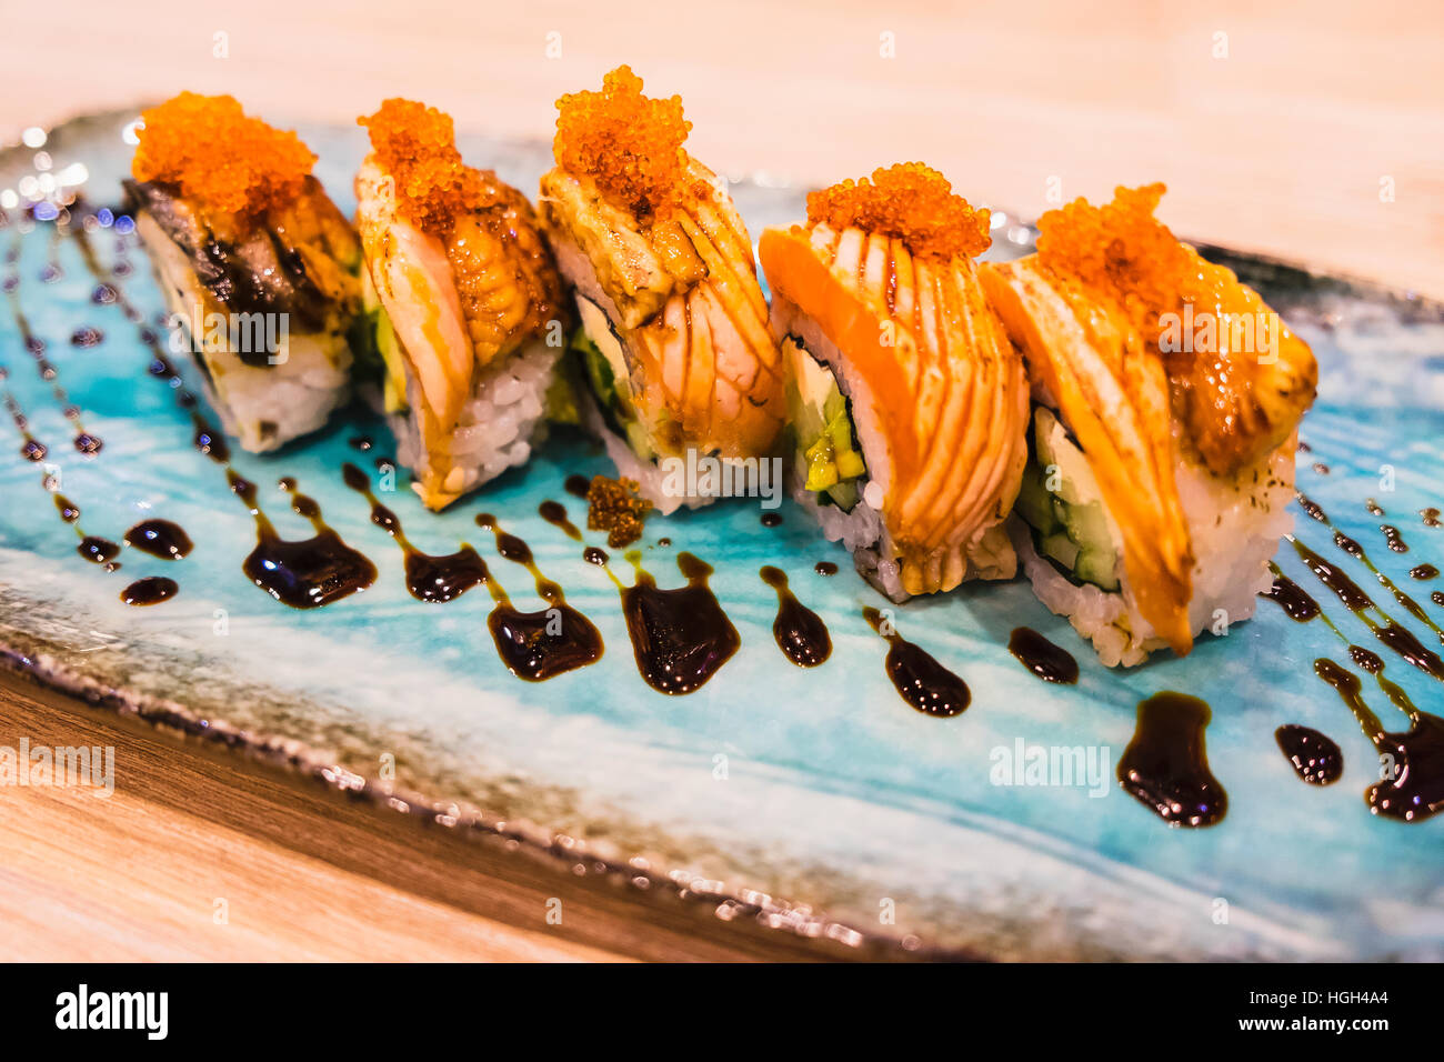
[[[56,130],[48,172],[74,179],[79,172],[68,168],[81,163],[90,201],[117,202],[130,156],[123,124],[111,116]],[[321,178],[349,210],[358,131],[302,131],[321,155]],[[547,162],[540,144],[464,147],[521,188],[534,188]],[[0,188],[39,179],[35,155],[9,152]],[[735,191],[754,236],[801,212],[796,192],[754,182]],[[32,227],[17,210],[9,220],[0,240],[16,257],[0,276],[16,279],[16,298],[58,376],[42,379],[6,312],[6,386],[49,446],[49,471],[82,510],[79,526],[120,540],[139,520],[165,517],[196,543],[179,562],[127,548],[118,572],[87,564],[42,484],[43,464],[25,459],[20,433],[0,422],[0,644],[42,679],[417,813],[710,897],[725,916],[783,931],[998,958],[1444,957],[1444,821],[1370,815],[1363,790],[1378,759],[1313,673],[1315,657],[1347,659],[1321,623],[1294,623],[1261,601],[1258,618],[1203,639],[1187,659],[1164,655],[1110,672],[1024,584],[967,587],[898,611],[901,633],[972,688],[965,714],[928,718],[890,685],[887,646],[861,617],[864,605],[884,603],[852,575],[848,556],[790,504],[775,529],[761,526],[754,504],[718,504],[647,524],[645,566],[666,587],[682,582],[679,551],[713,564],[712,585],[742,640],[700,691],[669,698],[638,678],[606,574],[537,516],[554,498],[582,522],[563,480],[606,470],[585,441],[554,438],[526,470],[442,516],[425,513],[404,483],[386,498],[417,548],[443,553],[469,540],[518,605],[537,607],[527,572],[497,558],[491,536],[472,523],[481,510],[495,513],[599,627],[599,663],[526,683],[497,657],[484,590],[443,605],[407,595],[400,552],[341,481],[342,462],[390,446],[364,415],[274,457],[238,454],[235,465],[261,485],[280,532],[302,538],[305,522],[273,487],[295,477],[326,522],[375,562],[375,585],[306,613],[257,590],[241,572],[254,545],[251,517],[218,467],[192,448],[191,422],[166,384],[147,374],[150,354],[136,327],[117,305],[92,301],[95,282],[72,240],[55,240],[51,224]],[[999,251],[1019,253],[1030,231],[1004,223],[995,236]],[[147,315],[160,311],[133,238],[113,225],[94,244],[107,267],[130,266],[121,277],[129,298]],[[1440,621],[1431,587],[1408,571],[1444,566],[1444,530],[1418,514],[1441,493],[1444,315],[1404,295],[1248,259],[1232,264],[1264,288],[1320,360],[1318,405],[1302,426],[1311,452],[1301,454],[1301,488]],[[72,345],[81,328],[98,329],[101,341]],[[193,384],[193,370],[185,371]],[[72,446],[77,426],[56,383],[84,429],[104,441],[98,455]],[[349,445],[362,433],[377,439],[371,455]],[[1311,470],[1315,461],[1327,474]],[[1386,517],[1370,516],[1369,497]],[[1380,523],[1401,529],[1408,553],[1386,548]],[[1302,516],[1298,524],[1301,538],[1373,585],[1331,546],[1326,527]],[[671,545],[658,545],[661,538]],[[843,571],[822,577],[813,571],[819,561]],[[767,564],[781,566],[825,617],[835,642],[826,665],[803,670],[774,644],[775,597],[758,578]],[[1330,605],[1347,639],[1373,644],[1291,549],[1279,564]],[[121,588],[144,575],[175,578],[179,595],[152,608],[121,604]],[[1424,623],[1402,618],[1425,644],[1437,643]],[[1008,653],[1009,631],[1024,624],[1073,652],[1082,665],[1076,686],[1045,685]],[[1386,656],[1389,678],[1421,708],[1437,709],[1444,686]],[[1115,779],[1135,707],[1162,689],[1213,707],[1207,753],[1229,812],[1212,828],[1170,829]],[[1372,681],[1365,696],[1389,728],[1406,728]],[[1340,782],[1300,782],[1274,740],[1291,722],[1341,744]],[[1092,750],[1105,764],[1102,779],[996,785],[995,764],[1019,744]]]

